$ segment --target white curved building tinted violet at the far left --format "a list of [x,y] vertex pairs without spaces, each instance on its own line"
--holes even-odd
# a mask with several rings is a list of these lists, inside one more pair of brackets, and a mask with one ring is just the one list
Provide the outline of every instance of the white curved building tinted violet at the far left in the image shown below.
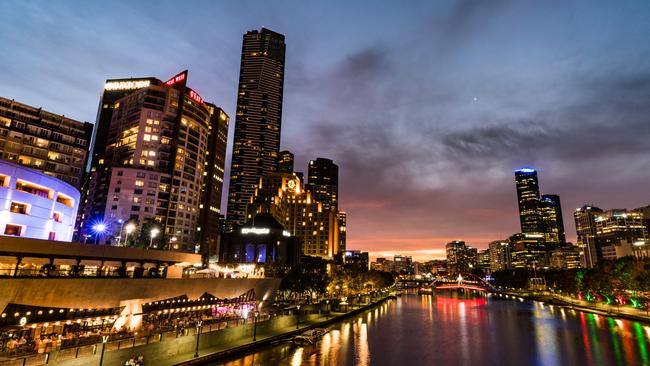
[[71,241],[79,196],[62,180],[0,161],[0,235]]

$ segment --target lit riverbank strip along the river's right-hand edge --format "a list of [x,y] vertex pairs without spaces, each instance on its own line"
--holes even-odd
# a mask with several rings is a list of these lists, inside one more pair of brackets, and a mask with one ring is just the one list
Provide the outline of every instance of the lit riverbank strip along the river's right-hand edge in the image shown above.
[[629,309],[607,304],[594,304],[584,300],[572,299],[568,296],[561,296],[550,293],[536,293],[530,291],[503,291],[503,295],[519,297],[525,300],[539,301],[548,305],[558,306],[565,309],[572,309],[602,316],[634,320],[650,324],[650,317],[647,312],[638,309]]

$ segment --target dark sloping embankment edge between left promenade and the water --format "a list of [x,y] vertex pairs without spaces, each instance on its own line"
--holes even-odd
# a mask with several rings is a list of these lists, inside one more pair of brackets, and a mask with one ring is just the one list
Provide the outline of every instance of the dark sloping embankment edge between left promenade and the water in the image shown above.
[[332,312],[330,314],[314,314],[317,316],[311,316],[309,319],[300,322],[297,327],[297,318],[294,324],[284,326],[277,329],[272,329],[268,331],[257,332],[257,340],[252,341],[252,339],[241,339],[229,343],[227,345],[216,345],[214,347],[200,349],[199,357],[194,357],[194,354],[185,354],[179,355],[176,359],[171,359],[170,364],[181,366],[181,365],[201,365],[208,362],[215,362],[221,359],[234,357],[241,354],[250,353],[261,347],[271,345],[276,342],[280,342],[286,339],[289,339],[295,335],[301,334],[307,330],[313,328],[322,328],[329,325],[341,322],[347,318],[350,318],[356,314],[362,313],[366,310],[372,309],[384,301],[391,298],[391,296],[384,296],[375,301],[371,301],[369,304],[362,305],[359,308],[351,309],[347,312]]

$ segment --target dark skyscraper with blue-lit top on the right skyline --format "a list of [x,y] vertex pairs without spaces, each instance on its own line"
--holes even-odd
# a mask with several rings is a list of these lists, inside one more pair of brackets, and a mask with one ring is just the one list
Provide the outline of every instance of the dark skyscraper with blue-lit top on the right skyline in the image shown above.
[[519,202],[519,222],[522,233],[541,233],[542,222],[539,214],[539,183],[537,171],[530,168],[515,170],[517,200]]

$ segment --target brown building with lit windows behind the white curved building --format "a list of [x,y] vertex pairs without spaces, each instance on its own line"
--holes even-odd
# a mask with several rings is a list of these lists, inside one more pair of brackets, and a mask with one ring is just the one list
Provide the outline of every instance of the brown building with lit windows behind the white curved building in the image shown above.
[[0,97],[0,159],[79,189],[93,125]]

